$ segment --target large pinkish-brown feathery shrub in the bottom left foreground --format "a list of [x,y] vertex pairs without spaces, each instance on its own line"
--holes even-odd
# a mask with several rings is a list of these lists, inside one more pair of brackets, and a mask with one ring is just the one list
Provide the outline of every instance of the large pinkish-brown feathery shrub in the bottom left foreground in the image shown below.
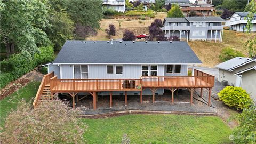
[[17,110],[12,110],[0,133],[1,143],[83,143],[87,125],[73,110],[60,100],[44,101],[31,109],[23,99]]

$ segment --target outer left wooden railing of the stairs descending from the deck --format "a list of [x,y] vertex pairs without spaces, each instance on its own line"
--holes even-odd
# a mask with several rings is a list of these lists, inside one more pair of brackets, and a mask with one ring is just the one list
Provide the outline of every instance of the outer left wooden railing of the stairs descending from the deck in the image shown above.
[[54,71],[52,73],[49,73],[49,74],[43,76],[43,79],[42,79],[41,84],[37,90],[36,97],[33,102],[34,108],[36,108],[38,105],[38,101],[39,101],[41,94],[44,90],[44,86],[49,83],[50,78],[52,78],[53,76],[54,76]]

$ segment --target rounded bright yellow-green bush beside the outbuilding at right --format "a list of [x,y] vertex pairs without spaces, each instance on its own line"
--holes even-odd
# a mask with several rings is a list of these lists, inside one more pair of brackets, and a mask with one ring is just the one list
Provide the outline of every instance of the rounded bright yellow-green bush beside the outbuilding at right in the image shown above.
[[252,105],[250,95],[241,87],[227,86],[218,95],[220,100],[229,107],[244,109]]

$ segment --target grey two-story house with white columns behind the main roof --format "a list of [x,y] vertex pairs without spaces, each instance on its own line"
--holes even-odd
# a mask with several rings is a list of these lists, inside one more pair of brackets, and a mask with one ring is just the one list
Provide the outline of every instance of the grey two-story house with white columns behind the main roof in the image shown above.
[[223,26],[221,17],[165,18],[162,30],[165,37],[178,36],[181,39],[222,41]]

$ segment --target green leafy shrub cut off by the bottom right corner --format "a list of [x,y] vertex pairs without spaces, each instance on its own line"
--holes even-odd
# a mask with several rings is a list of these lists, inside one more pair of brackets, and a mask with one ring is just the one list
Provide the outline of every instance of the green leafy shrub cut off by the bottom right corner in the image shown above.
[[239,122],[234,129],[235,143],[256,143],[256,106],[244,109],[241,114],[233,117]]

